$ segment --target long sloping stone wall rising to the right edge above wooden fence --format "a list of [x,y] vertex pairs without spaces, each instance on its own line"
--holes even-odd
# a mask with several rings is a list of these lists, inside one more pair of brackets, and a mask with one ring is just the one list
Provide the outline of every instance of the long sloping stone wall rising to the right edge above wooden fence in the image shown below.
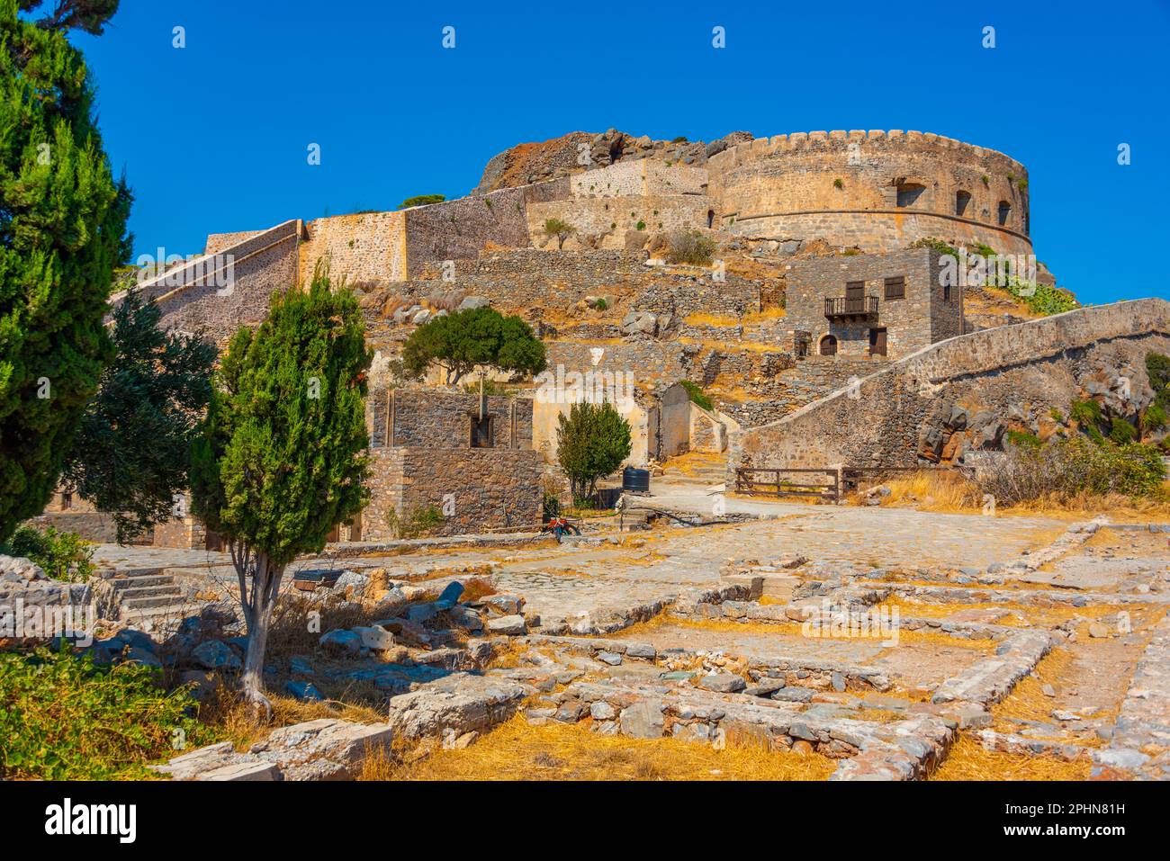
[[1081,383],[1127,368],[1147,386],[1145,353],[1170,352],[1170,303],[1137,299],[1082,308],[951,338],[813,401],[734,434],[737,466],[915,466],[923,441],[954,406],[1007,415],[1067,411]]

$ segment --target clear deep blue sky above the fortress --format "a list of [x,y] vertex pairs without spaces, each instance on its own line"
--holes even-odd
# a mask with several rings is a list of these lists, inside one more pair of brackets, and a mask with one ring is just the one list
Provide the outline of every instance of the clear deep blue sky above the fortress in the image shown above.
[[1155,262],[1170,201],[1168,37],[1166,0],[122,0],[104,35],[74,42],[136,194],[137,253],[459,197],[496,152],[576,130],[916,129],[1023,161],[1038,257],[1082,301],[1108,302],[1170,297]]

